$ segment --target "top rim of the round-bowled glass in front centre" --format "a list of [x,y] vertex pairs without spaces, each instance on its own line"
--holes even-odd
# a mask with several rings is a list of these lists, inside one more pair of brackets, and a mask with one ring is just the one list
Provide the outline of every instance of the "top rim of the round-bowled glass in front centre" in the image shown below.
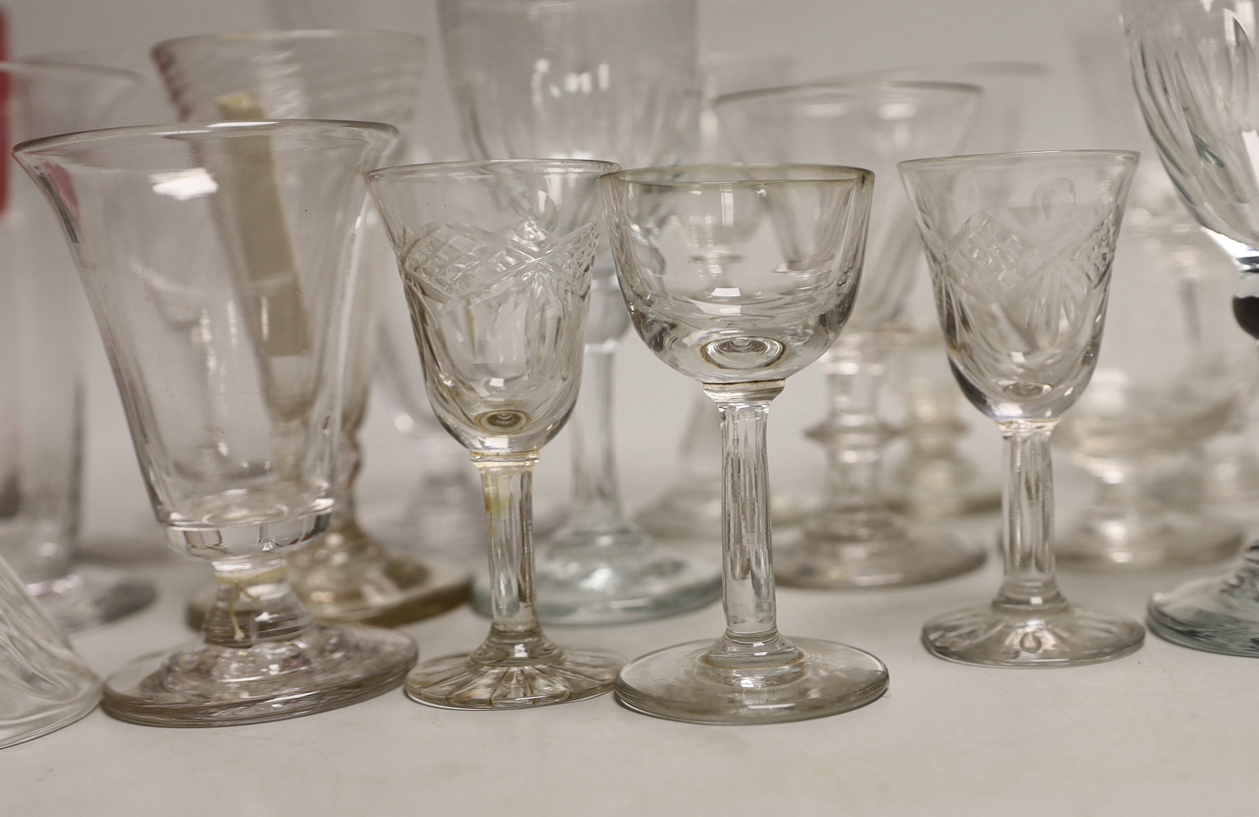
[[874,171],[846,165],[729,164],[676,165],[622,170],[603,177],[606,184],[653,188],[763,188],[768,184],[874,183]]

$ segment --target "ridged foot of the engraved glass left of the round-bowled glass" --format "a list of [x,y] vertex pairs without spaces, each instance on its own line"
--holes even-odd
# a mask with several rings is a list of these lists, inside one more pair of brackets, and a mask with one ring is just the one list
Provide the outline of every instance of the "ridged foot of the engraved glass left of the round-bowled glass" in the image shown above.
[[[519,660],[517,660],[519,661]],[[526,709],[611,692],[624,658],[601,650],[556,650],[530,663],[478,661],[462,653],[421,663],[407,695],[443,709]]]

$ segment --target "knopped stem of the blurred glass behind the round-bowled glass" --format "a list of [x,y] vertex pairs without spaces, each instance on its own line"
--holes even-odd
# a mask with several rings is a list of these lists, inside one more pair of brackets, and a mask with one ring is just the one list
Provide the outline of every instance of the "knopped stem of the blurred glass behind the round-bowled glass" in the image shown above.
[[826,511],[885,515],[879,475],[889,432],[879,418],[888,349],[880,342],[840,342],[823,359],[831,415],[817,434],[830,453]]

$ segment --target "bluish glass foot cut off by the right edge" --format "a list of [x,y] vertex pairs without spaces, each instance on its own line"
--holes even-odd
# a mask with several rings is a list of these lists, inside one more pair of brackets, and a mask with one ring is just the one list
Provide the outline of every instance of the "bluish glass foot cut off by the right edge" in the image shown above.
[[1194,650],[1259,657],[1259,594],[1251,565],[1181,584],[1149,599],[1149,631]]

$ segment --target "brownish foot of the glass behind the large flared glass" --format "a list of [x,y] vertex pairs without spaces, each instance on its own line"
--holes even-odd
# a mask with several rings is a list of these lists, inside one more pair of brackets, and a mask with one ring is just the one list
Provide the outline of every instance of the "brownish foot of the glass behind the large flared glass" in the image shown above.
[[[453,609],[467,600],[468,572],[441,559],[413,561],[394,554],[381,559],[360,582],[340,589],[303,588],[302,603],[319,621],[336,624],[399,627]],[[215,587],[198,590],[185,608],[185,621],[200,629],[214,604]]]

